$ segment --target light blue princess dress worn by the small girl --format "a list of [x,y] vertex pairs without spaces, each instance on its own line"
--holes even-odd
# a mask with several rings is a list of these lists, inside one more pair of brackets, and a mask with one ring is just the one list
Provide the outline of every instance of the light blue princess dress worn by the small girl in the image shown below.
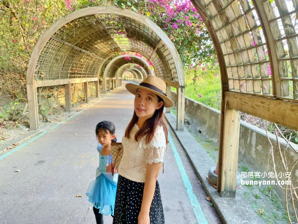
[[86,195],[93,206],[99,209],[99,213],[103,215],[114,214],[115,198],[118,174],[106,172],[106,166],[112,162],[112,156],[102,156],[101,150],[103,146],[98,145],[99,167],[97,168],[97,177],[89,184]]

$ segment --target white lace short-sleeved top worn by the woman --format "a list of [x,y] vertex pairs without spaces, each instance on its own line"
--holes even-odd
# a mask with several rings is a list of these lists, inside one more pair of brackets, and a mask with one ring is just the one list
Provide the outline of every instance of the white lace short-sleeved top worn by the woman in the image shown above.
[[162,126],[158,126],[153,139],[146,145],[146,137],[138,142],[134,139],[138,125],[131,129],[130,138],[122,138],[123,156],[119,164],[118,173],[122,177],[136,182],[145,183],[146,164],[164,161],[166,154],[166,138]]

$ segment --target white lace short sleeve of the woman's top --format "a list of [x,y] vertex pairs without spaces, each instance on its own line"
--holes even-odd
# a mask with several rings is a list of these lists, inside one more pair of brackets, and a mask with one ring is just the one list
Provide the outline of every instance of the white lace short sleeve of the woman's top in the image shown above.
[[145,147],[145,157],[146,163],[159,163],[164,161],[164,157],[166,154],[166,138],[164,135],[164,130],[159,127],[153,139],[149,142],[149,144]]

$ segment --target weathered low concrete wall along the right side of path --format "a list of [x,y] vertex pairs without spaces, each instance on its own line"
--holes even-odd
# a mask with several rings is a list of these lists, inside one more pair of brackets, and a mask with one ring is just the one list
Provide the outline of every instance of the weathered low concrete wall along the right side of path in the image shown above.
[[[177,94],[172,91],[171,99],[177,105]],[[201,132],[208,139],[212,139],[213,142],[219,142],[220,133],[220,114],[219,110],[210,108],[193,99],[185,98],[185,113],[193,119],[196,129]],[[268,133],[269,139],[273,145],[273,154],[276,165],[277,174],[280,172],[285,173],[283,163],[281,161],[280,152],[278,149],[275,135]],[[286,142],[282,138],[278,138],[280,147],[286,148]],[[298,146],[292,144],[292,148],[286,150],[286,159],[289,170],[294,165],[294,162],[298,159]],[[239,141],[239,154],[238,158],[243,163],[247,164],[252,172],[274,172],[274,166],[272,162],[272,156],[269,153],[271,145],[266,136],[266,131],[257,128],[254,125],[250,125],[247,122],[240,122],[240,141]],[[294,187],[298,187],[298,165],[296,165],[291,173],[291,181]],[[240,171],[241,172],[241,171]],[[260,178],[260,180],[264,180]],[[272,179],[274,180],[274,179]],[[281,178],[284,180],[284,178]],[[285,187],[285,185],[283,186]],[[285,190],[278,185],[274,187],[276,193],[280,196],[281,200],[285,203]],[[290,194],[290,192],[288,192]],[[297,206],[298,202],[296,201]]]

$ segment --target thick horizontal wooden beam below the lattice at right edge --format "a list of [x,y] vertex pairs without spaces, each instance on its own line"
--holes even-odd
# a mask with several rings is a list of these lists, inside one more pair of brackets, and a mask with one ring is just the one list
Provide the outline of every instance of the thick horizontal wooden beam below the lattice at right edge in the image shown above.
[[229,101],[229,108],[298,129],[298,103],[231,92],[225,93],[225,101]]

